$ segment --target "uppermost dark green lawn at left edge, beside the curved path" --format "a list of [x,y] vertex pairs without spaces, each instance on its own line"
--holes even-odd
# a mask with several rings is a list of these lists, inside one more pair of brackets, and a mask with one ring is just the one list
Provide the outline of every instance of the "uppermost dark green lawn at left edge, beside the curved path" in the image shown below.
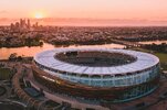
[[11,76],[9,68],[0,68],[0,80],[7,80]]

